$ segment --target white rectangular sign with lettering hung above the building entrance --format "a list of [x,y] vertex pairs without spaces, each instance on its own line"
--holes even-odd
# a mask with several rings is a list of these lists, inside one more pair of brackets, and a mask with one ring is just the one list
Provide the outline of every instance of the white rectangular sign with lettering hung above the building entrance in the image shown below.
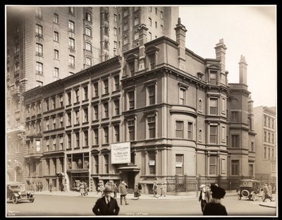
[[111,164],[128,164],[130,162],[130,142],[111,144]]

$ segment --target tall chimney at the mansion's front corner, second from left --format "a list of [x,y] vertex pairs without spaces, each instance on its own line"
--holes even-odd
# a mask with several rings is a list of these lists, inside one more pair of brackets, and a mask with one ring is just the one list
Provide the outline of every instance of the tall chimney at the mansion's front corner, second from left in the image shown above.
[[180,70],[185,71],[185,36],[186,28],[181,24],[181,19],[178,18],[178,24],[174,28],[176,30],[176,42],[178,42],[178,63]]

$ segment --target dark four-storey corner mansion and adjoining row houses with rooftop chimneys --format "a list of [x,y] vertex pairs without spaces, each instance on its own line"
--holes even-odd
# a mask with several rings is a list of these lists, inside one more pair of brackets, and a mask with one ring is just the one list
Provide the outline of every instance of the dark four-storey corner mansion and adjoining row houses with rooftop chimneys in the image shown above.
[[148,42],[140,25],[138,46],[122,56],[23,94],[27,178],[70,190],[125,180],[152,193],[154,181],[175,175],[248,176],[246,82],[228,85],[223,39],[216,59],[204,59],[185,48],[180,19],[174,29],[176,41]]

